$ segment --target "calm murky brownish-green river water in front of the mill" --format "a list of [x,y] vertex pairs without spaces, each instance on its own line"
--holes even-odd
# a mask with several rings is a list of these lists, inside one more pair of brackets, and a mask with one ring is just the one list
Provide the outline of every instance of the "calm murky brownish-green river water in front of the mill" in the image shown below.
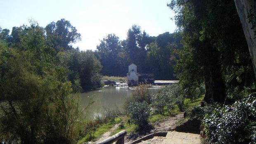
[[[155,93],[158,90],[159,87],[154,87],[149,91]],[[109,86],[79,94],[78,103],[81,108],[85,108],[90,101],[94,102],[85,110],[86,117],[92,118],[93,116],[103,113],[106,107],[123,111],[123,104],[131,95],[132,90],[127,86]]]

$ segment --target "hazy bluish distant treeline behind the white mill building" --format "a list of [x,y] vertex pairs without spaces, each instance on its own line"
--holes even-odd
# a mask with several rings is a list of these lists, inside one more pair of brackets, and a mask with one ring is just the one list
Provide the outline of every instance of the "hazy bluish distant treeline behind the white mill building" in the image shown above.
[[128,65],[134,63],[139,73],[154,73],[155,79],[176,79],[171,60],[175,58],[173,50],[182,49],[180,40],[179,33],[149,36],[133,25],[126,40],[119,40],[115,34],[103,38],[95,55],[102,64],[102,75],[126,76]]

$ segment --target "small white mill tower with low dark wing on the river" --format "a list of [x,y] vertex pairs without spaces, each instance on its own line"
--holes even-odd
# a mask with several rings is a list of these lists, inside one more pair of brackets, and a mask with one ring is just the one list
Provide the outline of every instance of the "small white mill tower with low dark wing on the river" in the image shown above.
[[154,83],[154,74],[137,73],[137,66],[130,64],[127,73],[128,86],[137,86],[139,83]]

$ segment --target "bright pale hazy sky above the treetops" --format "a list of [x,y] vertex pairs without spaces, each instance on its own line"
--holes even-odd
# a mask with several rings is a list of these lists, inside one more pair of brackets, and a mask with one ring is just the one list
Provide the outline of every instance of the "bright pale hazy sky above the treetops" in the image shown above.
[[29,19],[45,27],[62,18],[81,33],[81,41],[73,44],[80,50],[96,50],[100,40],[114,33],[126,39],[133,24],[150,36],[173,33],[174,13],[167,4],[171,0],[0,0],[0,26],[29,24]]

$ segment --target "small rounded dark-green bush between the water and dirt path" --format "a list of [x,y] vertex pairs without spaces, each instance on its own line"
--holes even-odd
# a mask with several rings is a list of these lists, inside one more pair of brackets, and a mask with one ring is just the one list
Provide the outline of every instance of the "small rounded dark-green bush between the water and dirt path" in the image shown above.
[[150,116],[149,105],[147,102],[130,102],[128,107],[131,122],[143,129],[148,125]]

